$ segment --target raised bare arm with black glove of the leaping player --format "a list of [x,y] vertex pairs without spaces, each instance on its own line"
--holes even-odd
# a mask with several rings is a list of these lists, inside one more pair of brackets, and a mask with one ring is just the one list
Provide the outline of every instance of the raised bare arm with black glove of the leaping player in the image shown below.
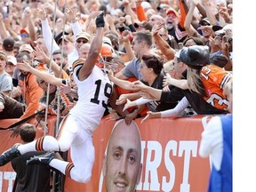
[[96,18],[96,34],[92,40],[92,44],[88,53],[88,57],[85,61],[85,64],[80,69],[78,77],[80,81],[84,81],[90,74],[92,73],[92,69],[95,66],[95,63],[98,60],[98,56],[100,54],[100,49],[102,46],[102,38],[104,32],[104,13],[101,12]]

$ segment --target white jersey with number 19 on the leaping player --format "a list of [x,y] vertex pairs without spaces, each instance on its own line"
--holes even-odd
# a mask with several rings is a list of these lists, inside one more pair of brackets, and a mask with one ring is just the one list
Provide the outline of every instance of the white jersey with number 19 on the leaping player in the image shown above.
[[82,121],[82,124],[95,125],[94,129],[96,129],[107,108],[113,85],[108,78],[108,74],[97,66],[92,69],[91,75],[84,81],[78,80],[76,72],[81,67],[77,66],[74,69],[74,81],[78,87],[78,100],[69,114],[76,115],[79,121]]

